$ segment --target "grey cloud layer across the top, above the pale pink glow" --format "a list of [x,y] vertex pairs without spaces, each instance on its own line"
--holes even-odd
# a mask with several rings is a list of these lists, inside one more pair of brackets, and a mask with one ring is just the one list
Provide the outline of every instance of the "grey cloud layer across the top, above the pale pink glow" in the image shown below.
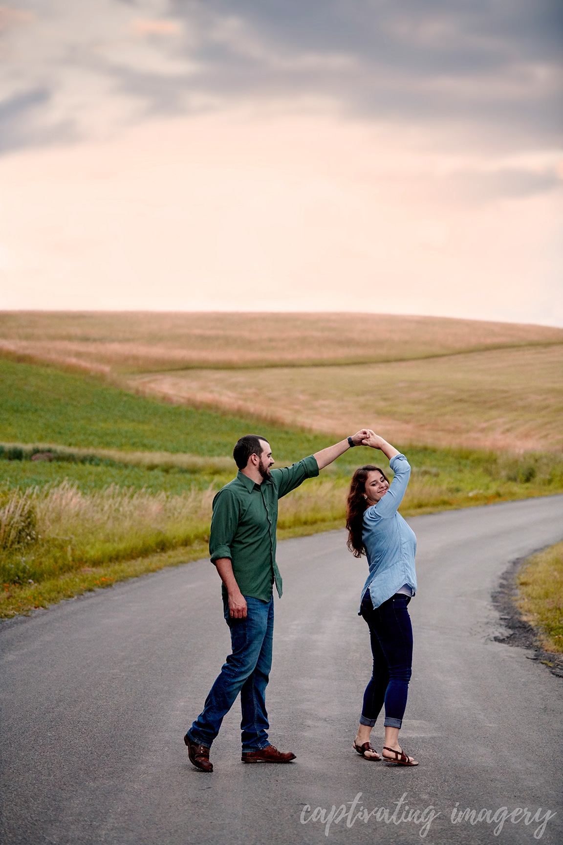
[[[78,131],[96,97],[112,95],[131,103],[127,119],[248,99],[321,98],[349,114],[439,123],[504,149],[561,141],[559,0],[103,0],[97,16],[89,7],[89,37],[79,30],[75,0],[26,8],[57,19],[58,35],[49,35],[41,64],[41,97],[33,62],[13,74],[19,85],[30,77],[20,106],[6,84],[8,146],[41,140],[41,126],[45,139],[72,135],[72,122]],[[170,37],[149,26],[143,37],[127,31],[128,19],[157,13],[183,26]],[[18,38],[16,63],[26,58],[21,31]],[[99,89],[69,97],[68,114],[62,100],[54,121],[52,103],[77,69],[99,79]]]

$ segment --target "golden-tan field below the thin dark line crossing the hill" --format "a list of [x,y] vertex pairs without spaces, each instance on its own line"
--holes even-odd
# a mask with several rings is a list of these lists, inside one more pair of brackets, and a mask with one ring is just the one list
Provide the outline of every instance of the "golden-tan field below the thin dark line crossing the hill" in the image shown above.
[[339,367],[192,369],[128,380],[148,395],[319,432],[369,425],[403,446],[563,447],[563,346]]

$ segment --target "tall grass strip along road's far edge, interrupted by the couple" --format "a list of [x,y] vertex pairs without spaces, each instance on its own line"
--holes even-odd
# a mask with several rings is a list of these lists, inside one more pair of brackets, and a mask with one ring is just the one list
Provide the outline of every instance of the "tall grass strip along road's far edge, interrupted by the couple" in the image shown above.
[[[414,472],[404,515],[524,498],[529,485],[491,482],[487,490],[460,488],[431,470]],[[280,499],[284,536],[344,526],[349,479],[324,476]],[[68,481],[0,493],[0,576],[4,584],[47,578],[116,561],[143,558],[208,541],[216,486],[181,493],[108,488],[82,492]],[[535,494],[551,492],[535,488]]]

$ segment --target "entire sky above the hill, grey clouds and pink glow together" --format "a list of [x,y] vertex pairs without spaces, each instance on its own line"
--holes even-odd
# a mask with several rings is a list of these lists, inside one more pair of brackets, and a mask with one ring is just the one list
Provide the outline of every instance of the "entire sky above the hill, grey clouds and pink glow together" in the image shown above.
[[0,14],[1,309],[563,325],[549,20],[335,3],[324,31],[248,3],[102,5]]

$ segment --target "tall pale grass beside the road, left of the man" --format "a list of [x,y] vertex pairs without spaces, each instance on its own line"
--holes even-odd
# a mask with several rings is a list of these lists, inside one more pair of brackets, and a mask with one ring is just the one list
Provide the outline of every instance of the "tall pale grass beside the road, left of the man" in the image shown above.
[[183,495],[111,486],[82,493],[63,481],[4,493],[0,509],[3,582],[133,559],[208,539],[214,490]]

